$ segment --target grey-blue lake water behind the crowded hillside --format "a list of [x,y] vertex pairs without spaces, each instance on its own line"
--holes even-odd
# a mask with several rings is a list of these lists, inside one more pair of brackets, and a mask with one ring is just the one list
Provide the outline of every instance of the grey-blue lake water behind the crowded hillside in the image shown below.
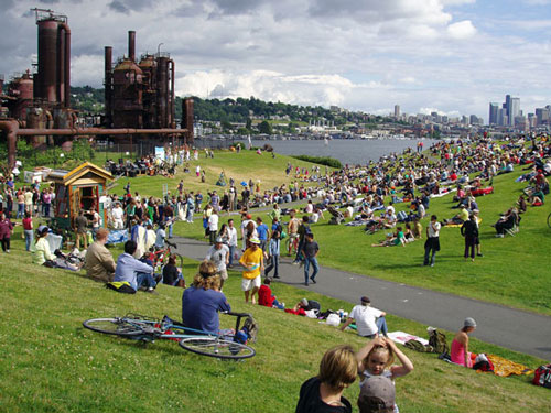
[[[252,140],[252,146],[262,148],[269,143],[277,153],[284,155],[331,156],[343,164],[366,164],[368,161],[378,161],[379,157],[391,152],[402,153],[406,148],[415,150],[419,139],[334,139],[325,144],[323,140],[304,141],[260,141]],[[424,149],[432,144],[432,140],[423,139]],[[245,141],[247,144],[247,141]]]

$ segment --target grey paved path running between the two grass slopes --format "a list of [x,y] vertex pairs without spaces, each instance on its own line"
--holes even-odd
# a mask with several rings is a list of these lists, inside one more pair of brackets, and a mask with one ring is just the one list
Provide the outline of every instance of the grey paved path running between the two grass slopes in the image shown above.
[[[195,260],[205,258],[208,247],[205,242],[180,237],[173,241],[182,256]],[[478,324],[474,337],[551,361],[550,316],[331,268],[321,268],[317,284],[305,286],[302,268],[292,265],[289,259],[281,260],[280,275],[285,284],[353,304],[367,295],[375,307],[389,314],[452,332],[461,327],[465,317],[473,317]]]

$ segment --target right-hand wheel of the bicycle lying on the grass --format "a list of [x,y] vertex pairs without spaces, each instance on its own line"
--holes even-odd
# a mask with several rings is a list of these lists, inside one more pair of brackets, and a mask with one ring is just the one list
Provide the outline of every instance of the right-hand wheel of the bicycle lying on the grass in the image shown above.
[[256,354],[252,347],[218,337],[188,337],[181,339],[179,344],[185,350],[219,359],[248,359]]

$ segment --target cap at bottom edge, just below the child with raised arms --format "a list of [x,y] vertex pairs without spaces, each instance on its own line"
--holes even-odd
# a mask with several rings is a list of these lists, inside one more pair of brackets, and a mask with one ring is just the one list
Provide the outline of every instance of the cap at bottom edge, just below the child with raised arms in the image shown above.
[[358,407],[365,412],[393,412],[396,389],[392,381],[382,376],[370,377],[359,391]]

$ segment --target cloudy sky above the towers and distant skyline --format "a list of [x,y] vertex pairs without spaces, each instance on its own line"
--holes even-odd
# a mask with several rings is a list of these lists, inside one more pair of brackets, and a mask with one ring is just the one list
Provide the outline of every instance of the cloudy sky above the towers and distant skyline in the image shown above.
[[[0,74],[36,62],[31,8],[68,17],[72,85],[102,87],[104,46],[169,52],[176,95],[255,96],[387,115],[551,104],[551,0],[0,0]],[[162,44],[161,44],[162,43]]]

